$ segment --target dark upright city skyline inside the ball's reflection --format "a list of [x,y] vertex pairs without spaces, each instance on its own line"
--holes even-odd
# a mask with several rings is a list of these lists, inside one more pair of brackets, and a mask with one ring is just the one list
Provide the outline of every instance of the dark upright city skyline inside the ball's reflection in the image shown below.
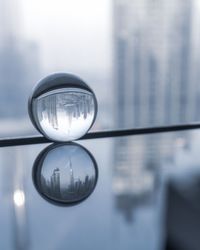
[[74,176],[74,170],[72,167],[71,159],[67,165],[69,180],[66,179],[64,183],[61,183],[61,171],[57,167],[50,174],[49,178],[45,178],[41,174],[41,187],[45,195],[54,197],[56,199],[78,199],[87,196],[95,186],[95,177],[85,175],[83,180],[80,177]]

